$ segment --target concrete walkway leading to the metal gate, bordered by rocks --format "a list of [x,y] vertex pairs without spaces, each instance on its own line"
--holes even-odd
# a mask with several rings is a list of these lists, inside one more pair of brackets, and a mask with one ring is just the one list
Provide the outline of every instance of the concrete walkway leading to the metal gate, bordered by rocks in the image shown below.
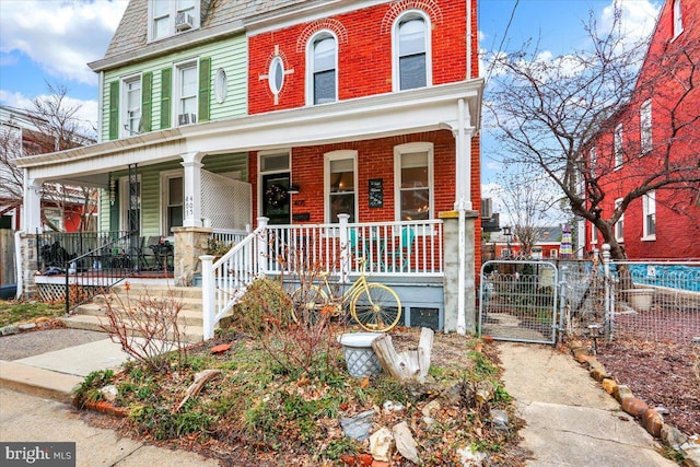
[[516,399],[527,466],[660,467],[677,464],[568,352],[500,342],[505,390]]

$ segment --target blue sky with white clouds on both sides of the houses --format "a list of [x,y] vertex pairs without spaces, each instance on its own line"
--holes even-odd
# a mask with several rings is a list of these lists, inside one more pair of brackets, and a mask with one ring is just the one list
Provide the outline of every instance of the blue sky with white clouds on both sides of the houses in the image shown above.
[[[591,12],[599,24],[609,23],[614,1],[620,2],[633,35],[653,28],[662,4],[662,0],[480,0],[479,48],[508,52],[534,38],[552,56],[565,55],[586,47],[583,23]],[[96,127],[97,74],[86,63],[104,57],[126,5],[127,0],[0,1],[0,103],[31,108],[32,100],[46,94],[46,82],[61,84],[69,90],[70,104],[82,106],[80,118]],[[482,75],[488,72],[488,63],[481,63]],[[481,138],[482,187],[490,196],[498,190],[497,174],[504,167],[489,156],[493,140],[488,121]],[[498,209],[499,201],[495,205]]]

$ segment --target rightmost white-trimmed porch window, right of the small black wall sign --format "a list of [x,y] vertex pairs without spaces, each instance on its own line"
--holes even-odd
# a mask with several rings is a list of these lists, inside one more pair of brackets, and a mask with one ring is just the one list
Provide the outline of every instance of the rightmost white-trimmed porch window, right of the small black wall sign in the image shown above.
[[433,145],[407,143],[394,148],[396,220],[433,219]]

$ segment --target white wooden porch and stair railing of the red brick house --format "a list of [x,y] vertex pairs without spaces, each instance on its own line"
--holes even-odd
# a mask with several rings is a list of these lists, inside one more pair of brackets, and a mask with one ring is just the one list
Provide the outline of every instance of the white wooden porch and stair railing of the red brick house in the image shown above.
[[202,256],[205,339],[261,273],[282,275],[324,268],[341,282],[359,275],[355,258],[365,258],[368,276],[441,277],[443,224],[440,220],[412,222],[267,225],[240,241],[215,262]]

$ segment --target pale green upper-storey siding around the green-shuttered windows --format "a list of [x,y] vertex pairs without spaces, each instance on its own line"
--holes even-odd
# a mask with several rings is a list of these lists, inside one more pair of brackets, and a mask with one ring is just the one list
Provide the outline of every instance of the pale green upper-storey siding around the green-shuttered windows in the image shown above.
[[[109,84],[112,81],[118,81],[122,77],[133,75],[141,73],[153,73],[152,83],[152,130],[163,129],[161,126],[162,110],[162,75],[161,71],[164,68],[172,68],[179,62],[191,60],[198,57],[207,57],[211,60],[210,65],[210,83],[213,83],[213,79],[217,71],[222,68],[228,75],[228,96],[221,104],[214,98],[213,85],[210,89],[208,100],[209,105],[209,118],[211,120],[230,118],[245,115],[247,112],[247,54],[246,54],[246,38],[241,34],[236,37],[230,37],[215,43],[192,47],[187,50],[168,54],[163,57],[154,58],[148,61],[143,61],[136,65],[130,65],[124,68],[110,70],[105,72],[104,82],[107,83],[103,90],[103,98],[105,103],[109,102]],[[168,105],[168,109],[172,109],[172,103]],[[103,107],[103,138],[109,137],[109,107]],[[170,119],[167,119],[170,121]]]

